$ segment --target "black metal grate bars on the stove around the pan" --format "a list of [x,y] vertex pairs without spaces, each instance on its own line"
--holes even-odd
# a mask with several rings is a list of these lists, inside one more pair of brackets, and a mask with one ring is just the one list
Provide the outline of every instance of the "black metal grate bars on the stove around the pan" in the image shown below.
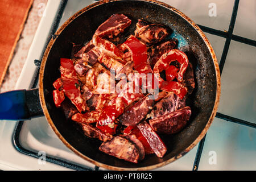
[[[65,5],[67,4],[67,1],[68,0],[62,0],[61,1],[58,13],[56,14],[55,21],[53,22],[51,32],[48,36],[48,40],[46,42],[43,53],[44,53],[49,41],[51,40],[52,36],[54,36],[54,34],[57,30],[57,27],[59,26],[59,22],[60,22],[62,14],[63,14],[63,11],[65,9]],[[202,26],[202,25],[198,25],[201,28],[201,30],[203,30],[204,32],[207,32],[207,33],[213,34],[213,35],[217,35],[217,36],[221,36],[222,38],[226,39],[225,46],[224,46],[224,49],[223,49],[222,55],[221,55],[220,64],[219,64],[220,73],[222,73],[222,71],[224,69],[226,56],[227,56],[228,51],[229,51],[229,45],[230,45],[231,40],[235,40],[237,42],[241,42],[241,43],[248,44],[250,46],[255,46],[256,47],[256,41],[255,40],[251,40],[251,39],[243,38],[241,36],[233,35],[234,24],[236,23],[238,6],[239,6],[239,0],[235,0],[234,7],[233,7],[233,12],[232,12],[232,17],[231,17],[230,24],[229,24],[229,30],[227,32],[216,30],[216,29],[209,28],[209,27],[205,27],[205,26]],[[41,58],[43,57],[43,53],[42,53]],[[35,73],[34,79],[31,82],[31,88],[36,88],[36,85],[38,84],[40,60],[35,60],[35,64],[38,66],[38,69]],[[244,121],[242,119],[234,118],[234,117],[231,117],[229,115],[217,113],[216,118],[220,118],[220,119],[223,119],[225,121],[238,123],[238,124],[245,125],[245,126],[248,126],[248,127],[253,127],[254,129],[256,128],[255,123],[251,123],[251,122],[248,122],[248,121]],[[39,156],[37,155],[36,152],[27,150],[26,148],[23,148],[22,145],[19,143],[19,133],[20,133],[20,130],[22,129],[22,125],[23,125],[23,121],[19,121],[18,124],[16,125],[15,130],[14,130],[14,137],[13,137],[14,146],[16,147],[16,149],[19,152],[22,152],[23,154],[30,155],[34,158],[39,158]],[[193,171],[197,171],[198,168],[199,168],[199,163],[200,163],[201,154],[202,154],[203,148],[204,148],[205,138],[206,138],[206,135],[200,141],[199,147],[197,148],[196,158],[195,158],[193,168],[192,168]],[[64,167],[75,169],[75,170],[98,170],[99,169],[98,166],[94,166],[94,169],[90,169],[90,168],[82,167],[82,166],[77,165],[77,164],[67,162],[63,159],[52,157],[52,156],[46,156],[46,160],[47,160],[47,162],[52,162],[52,163],[55,163],[55,164],[59,164],[60,166],[64,166]]]

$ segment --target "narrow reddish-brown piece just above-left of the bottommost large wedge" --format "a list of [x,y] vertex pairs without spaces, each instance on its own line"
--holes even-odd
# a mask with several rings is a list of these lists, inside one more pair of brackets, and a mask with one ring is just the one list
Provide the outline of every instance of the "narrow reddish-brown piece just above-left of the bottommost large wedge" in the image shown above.
[[89,138],[96,138],[103,142],[106,142],[113,138],[112,135],[105,134],[101,130],[97,129],[97,127],[94,127],[92,125],[87,125],[82,123],[81,127],[82,127],[82,130],[84,131],[84,134]]

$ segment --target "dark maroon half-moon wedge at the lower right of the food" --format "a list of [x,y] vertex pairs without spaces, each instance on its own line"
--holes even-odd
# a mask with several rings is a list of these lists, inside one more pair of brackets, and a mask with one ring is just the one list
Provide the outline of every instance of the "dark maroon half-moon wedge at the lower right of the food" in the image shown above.
[[172,113],[150,119],[149,123],[151,127],[158,133],[174,134],[184,128],[190,116],[191,109],[189,106],[187,106]]

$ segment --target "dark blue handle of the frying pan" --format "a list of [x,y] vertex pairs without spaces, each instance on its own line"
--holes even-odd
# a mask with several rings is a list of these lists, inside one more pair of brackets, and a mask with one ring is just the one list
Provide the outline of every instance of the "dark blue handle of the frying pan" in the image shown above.
[[0,94],[0,120],[27,120],[42,115],[38,89]]

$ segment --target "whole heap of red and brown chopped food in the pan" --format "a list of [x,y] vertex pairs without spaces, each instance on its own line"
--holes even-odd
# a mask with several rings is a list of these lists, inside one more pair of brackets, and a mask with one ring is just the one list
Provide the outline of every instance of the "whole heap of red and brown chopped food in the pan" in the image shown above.
[[102,140],[100,151],[138,163],[148,154],[163,158],[167,147],[159,135],[187,125],[185,101],[195,80],[187,55],[162,24],[139,19],[134,34],[117,44],[130,24],[114,14],[92,40],[74,44],[70,59],[60,59],[53,101],[87,137]]

